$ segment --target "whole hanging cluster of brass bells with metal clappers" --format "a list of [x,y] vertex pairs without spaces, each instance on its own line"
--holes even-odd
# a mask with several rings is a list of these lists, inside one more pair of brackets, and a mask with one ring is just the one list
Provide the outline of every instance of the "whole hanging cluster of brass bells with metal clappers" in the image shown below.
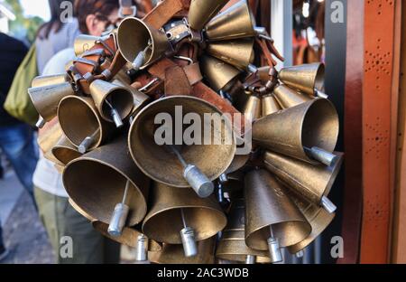
[[[29,89],[38,127],[49,123],[40,146],[70,204],[139,261],[276,263],[282,248],[299,255],[335,216],[328,193],[343,154],[334,152],[338,116],[324,65],[256,68],[255,40],[271,39],[245,0],[227,2],[193,0],[187,19],[161,29],[129,17],[106,37],[80,35],[77,56],[113,37],[125,67],[86,90],[69,71]],[[201,49],[186,59],[203,81],[252,125],[250,154],[237,155],[241,135],[211,100],[146,90],[161,78],[133,87],[183,39]],[[190,117],[208,143],[183,139],[196,136],[176,121]]]

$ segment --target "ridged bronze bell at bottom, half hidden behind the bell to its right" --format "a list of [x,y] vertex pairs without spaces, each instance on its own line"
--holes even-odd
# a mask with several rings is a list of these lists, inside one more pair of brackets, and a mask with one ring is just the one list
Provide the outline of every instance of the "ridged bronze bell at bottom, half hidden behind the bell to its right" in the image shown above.
[[251,249],[245,244],[245,201],[234,200],[228,216],[226,229],[218,243],[216,257],[246,263],[270,263],[265,250]]

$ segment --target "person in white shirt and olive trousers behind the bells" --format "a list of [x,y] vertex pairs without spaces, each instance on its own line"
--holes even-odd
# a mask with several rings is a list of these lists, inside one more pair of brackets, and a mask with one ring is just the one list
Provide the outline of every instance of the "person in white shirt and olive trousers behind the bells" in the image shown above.
[[[74,22],[78,24],[75,32],[72,30],[73,24],[70,25],[69,30],[62,26],[60,33],[65,33],[65,36],[60,36],[59,33],[52,32],[54,29],[51,29],[48,39],[44,41],[39,37],[37,40],[37,44],[39,44],[37,47],[53,44],[55,41],[58,42],[59,48],[61,41],[64,41],[65,48],[69,47],[50,57],[50,61],[47,59],[43,63],[39,63],[39,66],[44,65],[43,70],[40,69],[42,75],[64,72],[65,65],[75,58],[73,51],[75,38],[69,38],[66,34],[85,33],[100,36],[107,28],[115,26],[119,22],[118,0],[77,0],[74,4],[76,17]],[[49,31],[48,28],[42,28],[42,32],[39,33],[40,36],[47,31]],[[52,48],[54,47],[44,47],[43,50],[52,50]],[[42,52],[42,50],[38,48],[38,52]],[[39,54],[38,58],[45,60],[44,58],[48,56],[49,54]],[[56,122],[58,122],[57,118],[48,123],[40,130],[40,135],[47,130],[47,127]],[[35,170],[33,183],[40,216],[51,240],[57,263],[101,264],[119,262],[120,245],[103,237],[97,230],[93,229],[87,219],[75,211],[69,204],[68,194],[62,183],[62,175],[56,170],[54,164],[43,156],[41,156]],[[65,243],[60,240],[65,236],[72,239],[72,258],[60,257],[60,247]]]

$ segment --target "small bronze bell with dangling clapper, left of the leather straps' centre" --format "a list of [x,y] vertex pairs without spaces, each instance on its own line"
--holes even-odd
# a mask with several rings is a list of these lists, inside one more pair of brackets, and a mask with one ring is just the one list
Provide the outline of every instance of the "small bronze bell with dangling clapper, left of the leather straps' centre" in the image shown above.
[[128,118],[134,108],[132,91],[104,80],[95,80],[90,84],[90,94],[100,116],[114,122],[116,127],[123,127],[123,119]]

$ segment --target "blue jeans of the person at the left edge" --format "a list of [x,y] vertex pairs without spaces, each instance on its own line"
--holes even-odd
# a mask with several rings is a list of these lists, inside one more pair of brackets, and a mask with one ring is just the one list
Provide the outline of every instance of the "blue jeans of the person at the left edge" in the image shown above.
[[0,127],[0,148],[33,199],[32,174],[37,166],[38,154],[33,143],[32,128],[25,124]]

